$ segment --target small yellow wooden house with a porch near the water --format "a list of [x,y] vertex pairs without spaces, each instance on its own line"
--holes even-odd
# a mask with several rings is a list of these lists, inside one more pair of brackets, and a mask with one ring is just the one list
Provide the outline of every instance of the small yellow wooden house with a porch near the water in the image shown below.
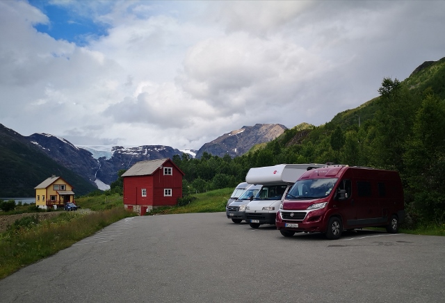
[[74,203],[74,192],[70,184],[61,177],[52,176],[35,186],[35,206],[39,208],[63,207]]

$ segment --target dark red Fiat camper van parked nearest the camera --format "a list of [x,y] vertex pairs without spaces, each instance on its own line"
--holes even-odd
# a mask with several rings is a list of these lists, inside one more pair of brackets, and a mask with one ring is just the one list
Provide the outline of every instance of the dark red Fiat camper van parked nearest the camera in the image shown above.
[[280,204],[275,224],[285,237],[306,231],[338,239],[343,230],[362,227],[396,233],[404,218],[398,172],[329,165],[302,174]]

